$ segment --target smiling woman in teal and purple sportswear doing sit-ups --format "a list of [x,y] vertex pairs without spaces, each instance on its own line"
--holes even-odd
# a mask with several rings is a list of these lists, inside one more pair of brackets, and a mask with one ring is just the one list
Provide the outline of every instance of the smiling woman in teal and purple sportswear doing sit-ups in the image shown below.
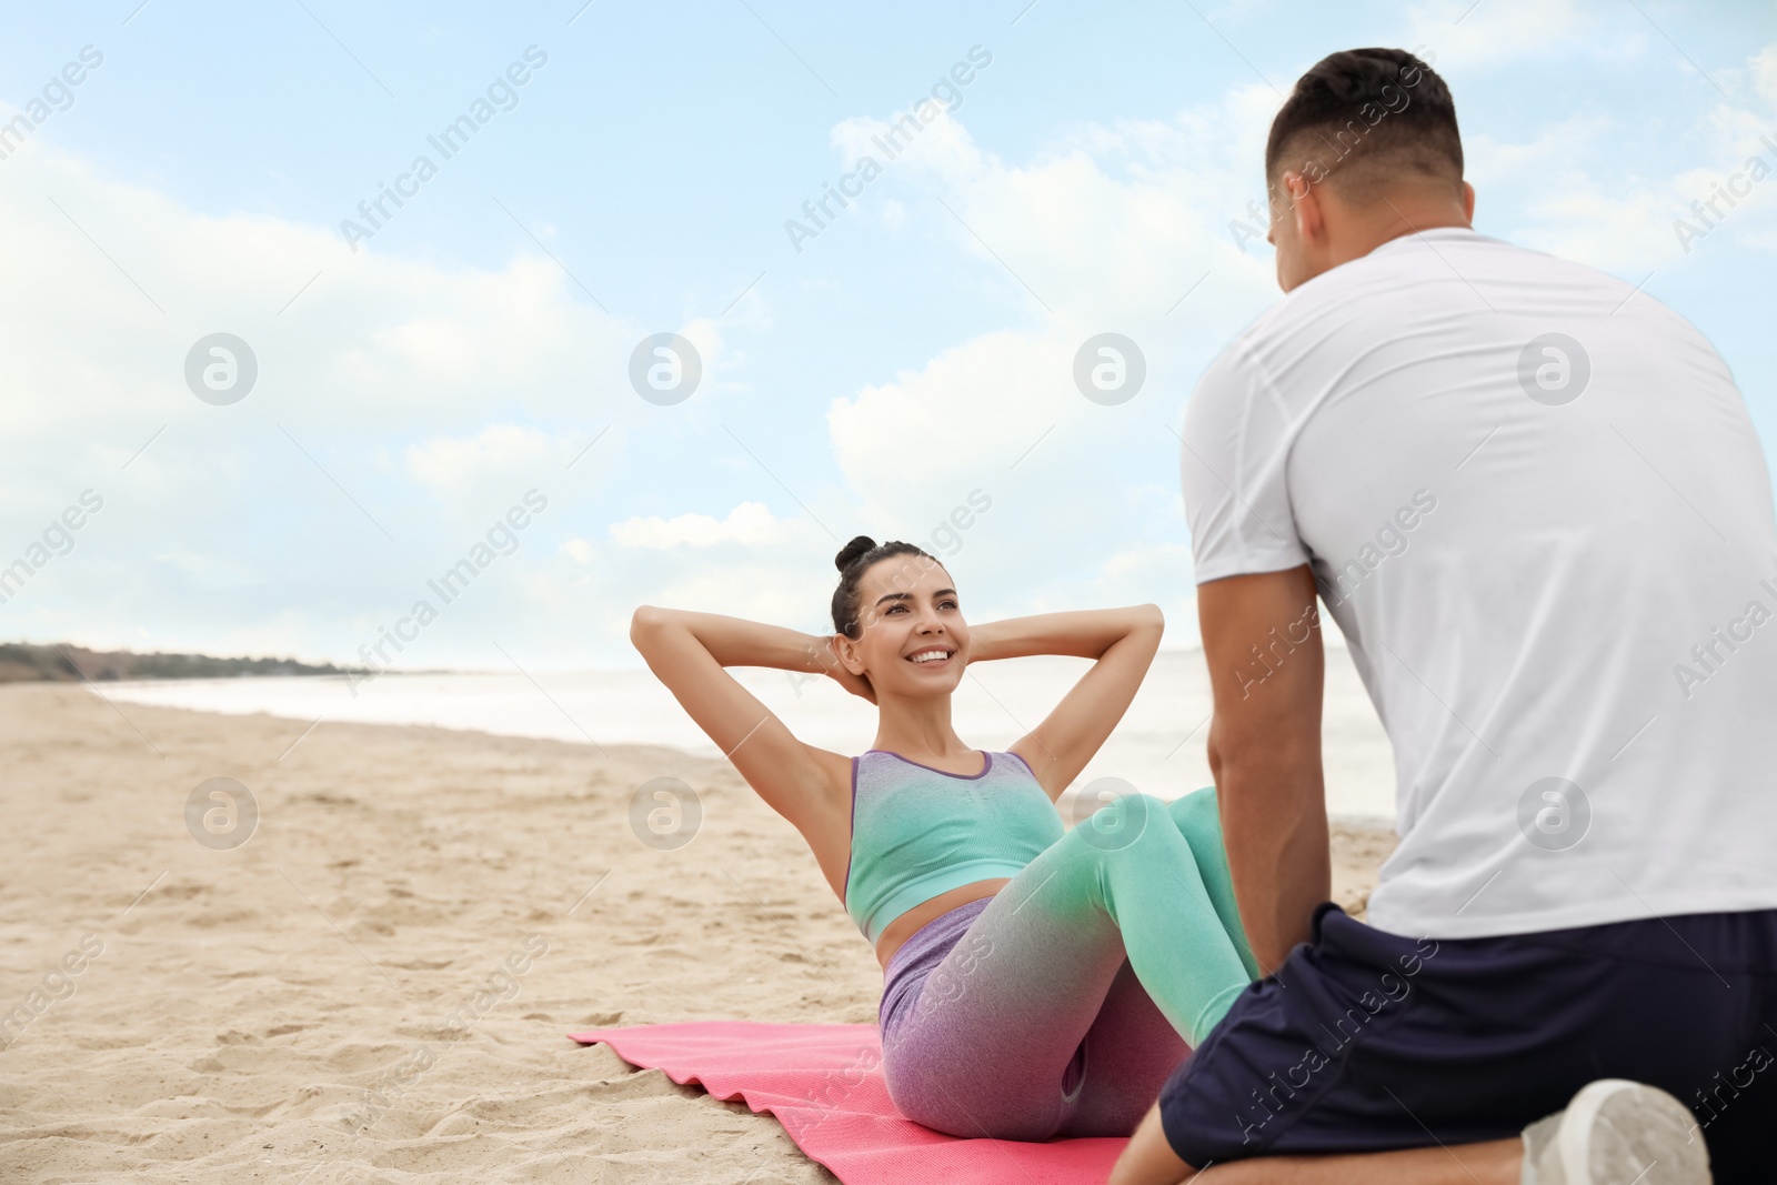
[[[837,563],[830,638],[649,606],[629,636],[874,945],[896,1107],[952,1135],[1128,1135],[1258,970],[1214,789],[1121,798],[1072,831],[1056,812],[1146,675],[1160,611],[970,627],[912,544],[858,537]],[[1096,663],[1009,750],[968,748],[963,670],[1029,654]],[[830,675],[876,704],[874,746],[800,743],[725,666]]]

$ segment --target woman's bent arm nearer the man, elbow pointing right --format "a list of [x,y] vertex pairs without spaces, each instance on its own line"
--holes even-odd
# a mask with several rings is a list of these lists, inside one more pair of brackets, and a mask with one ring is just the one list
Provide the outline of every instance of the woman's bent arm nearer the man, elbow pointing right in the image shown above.
[[970,627],[970,661],[1031,654],[1098,659],[1043,723],[1011,746],[1052,799],[1068,789],[1123,720],[1160,648],[1162,632],[1166,618],[1153,604],[1040,613]]

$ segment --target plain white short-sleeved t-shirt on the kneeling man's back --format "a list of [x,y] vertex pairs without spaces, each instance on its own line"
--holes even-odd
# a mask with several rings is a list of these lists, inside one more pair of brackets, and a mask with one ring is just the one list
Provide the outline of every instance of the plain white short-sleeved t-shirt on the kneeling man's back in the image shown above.
[[1372,926],[1777,908],[1772,483],[1685,318],[1422,231],[1265,313],[1183,441],[1198,583],[1310,563],[1393,743]]

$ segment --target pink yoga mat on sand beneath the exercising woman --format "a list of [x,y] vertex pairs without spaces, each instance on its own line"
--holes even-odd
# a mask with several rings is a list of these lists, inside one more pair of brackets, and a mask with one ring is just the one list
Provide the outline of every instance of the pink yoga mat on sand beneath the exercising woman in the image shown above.
[[698,1082],[716,1098],[769,1110],[796,1146],[846,1185],[1084,1185],[1104,1181],[1123,1139],[1047,1144],[956,1139],[896,1114],[876,1025],[705,1020],[570,1032],[643,1070]]

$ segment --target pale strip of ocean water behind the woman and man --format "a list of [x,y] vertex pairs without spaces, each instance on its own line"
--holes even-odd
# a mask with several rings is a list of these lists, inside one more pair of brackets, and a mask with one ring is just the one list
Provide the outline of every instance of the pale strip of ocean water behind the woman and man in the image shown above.
[[[1393,752],[1343,648],[1327,648],[1322,748],[1327,810],[1336,817],[1391,821]],[[981,663],[965,672],[951,702],[958,736],[983,750],[1002,750],[1036,727],[1091,666],[1086,659],[1025,657]],[[860,753],[876,732],[876,709],[830,679],[739,668],[748,691],[807,741]],[[350,688],[341,677],[179,679],[103,684],[128,704],[206,712],[267,712],[290,720],[435,725],[579,744],[670,744],[716,757],[720,752],[647,668],[572,673],[387,673]],[[1134,787],[1176,798],[1210,785],[1205,741],[1210,716],[1208,672],[1199,650],[1162,650],[1118,730],[1063,798],[1063,812],[1095,803],[1111,789]],[[1121,783],[1093,785],[1100,778]],[[1084,796],[1084,798],[1082,798]],[[1068,817],[1073,817],[1072,814]]]

